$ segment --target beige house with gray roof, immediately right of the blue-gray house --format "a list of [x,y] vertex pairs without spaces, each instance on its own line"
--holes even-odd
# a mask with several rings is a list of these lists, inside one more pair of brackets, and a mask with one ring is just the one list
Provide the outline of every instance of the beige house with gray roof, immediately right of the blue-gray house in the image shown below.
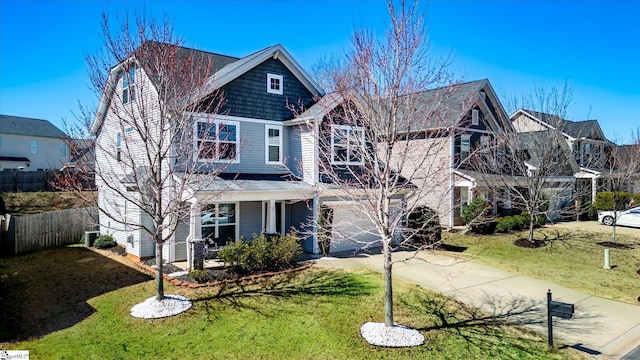
[[[495,143],[497,134],[514,129],[487,79],[437,88],[420,97],[425,114],[439,119],[433,119],[433,126],[411,127],[411,134],[424,136],[414,136],[410,146],[417,152],[437,151],[430,155],[433,159],[423,162],[424,168],[407,167],[401,174],[423,173],[412,176],[412,181],[430,188],[422,199],[424,205],[438,212],[443,227],[463,225],[461,212],[474,196],[493,197],[488,190],[492,187],[485,183],[488,177],[478,176],[467,159],[481,145]],[[434,107],[440,110],[434,112]]]

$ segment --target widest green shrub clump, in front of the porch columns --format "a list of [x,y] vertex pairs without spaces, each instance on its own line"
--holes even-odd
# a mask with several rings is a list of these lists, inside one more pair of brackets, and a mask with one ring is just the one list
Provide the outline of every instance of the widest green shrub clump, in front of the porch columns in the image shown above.
[[254,235],[251,241],[237,240],[218,253],[227,271],[251,274],[261,271],[279,271],[296,264],[302,247],[298,237],[289,233],[280,236]]

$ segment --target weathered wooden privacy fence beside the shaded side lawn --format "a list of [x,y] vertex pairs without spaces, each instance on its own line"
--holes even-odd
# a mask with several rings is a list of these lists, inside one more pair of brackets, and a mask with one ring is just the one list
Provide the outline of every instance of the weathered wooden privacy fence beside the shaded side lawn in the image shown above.
[[96,228],[97,218],[96,207],[47,211],[26,216],[5,215],[0,220],[0,254],[13,256],[78,244],[85,231]]

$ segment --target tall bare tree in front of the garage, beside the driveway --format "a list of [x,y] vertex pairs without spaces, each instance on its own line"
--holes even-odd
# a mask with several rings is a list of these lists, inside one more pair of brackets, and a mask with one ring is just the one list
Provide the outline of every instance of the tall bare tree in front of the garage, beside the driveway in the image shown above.
[[430,93],[425,101],[426,90],[449,85],[452,77],[448,58],[435,58],[429,51],[420,7],[404,2],[395,7],[389,1],[388,8],[391,23],[385,38],[356,32],[346,66],[331,69],[328,78],[335,92],[323,100],[339,105],[330,108],[319,126],[318,158],[320,182],[373,224],[354,222],[353,231],[342,235],[356,242],[363,233],[379,238],[361,242],[361,248],[382,247],[384,319],[390,327],[392,267],[408,260],[392,259],[392,252],[429,246],[415,241],[424,228],[406,229],[403,214],[418,211],[426,197],[444,201],[450,194],[450,158],[440,154],[449,153],[456,124],[447,122],[445,92]]

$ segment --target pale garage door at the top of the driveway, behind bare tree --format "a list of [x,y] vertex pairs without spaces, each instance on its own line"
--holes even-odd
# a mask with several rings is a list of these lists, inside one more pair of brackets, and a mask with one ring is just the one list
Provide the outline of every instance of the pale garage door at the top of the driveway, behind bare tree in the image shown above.
[[[369,218],[353,205],[336,205],[333,208],[331,252],[353,251],[371,243],[380,236]],[[354,241],[356,240],[356,241]]]

